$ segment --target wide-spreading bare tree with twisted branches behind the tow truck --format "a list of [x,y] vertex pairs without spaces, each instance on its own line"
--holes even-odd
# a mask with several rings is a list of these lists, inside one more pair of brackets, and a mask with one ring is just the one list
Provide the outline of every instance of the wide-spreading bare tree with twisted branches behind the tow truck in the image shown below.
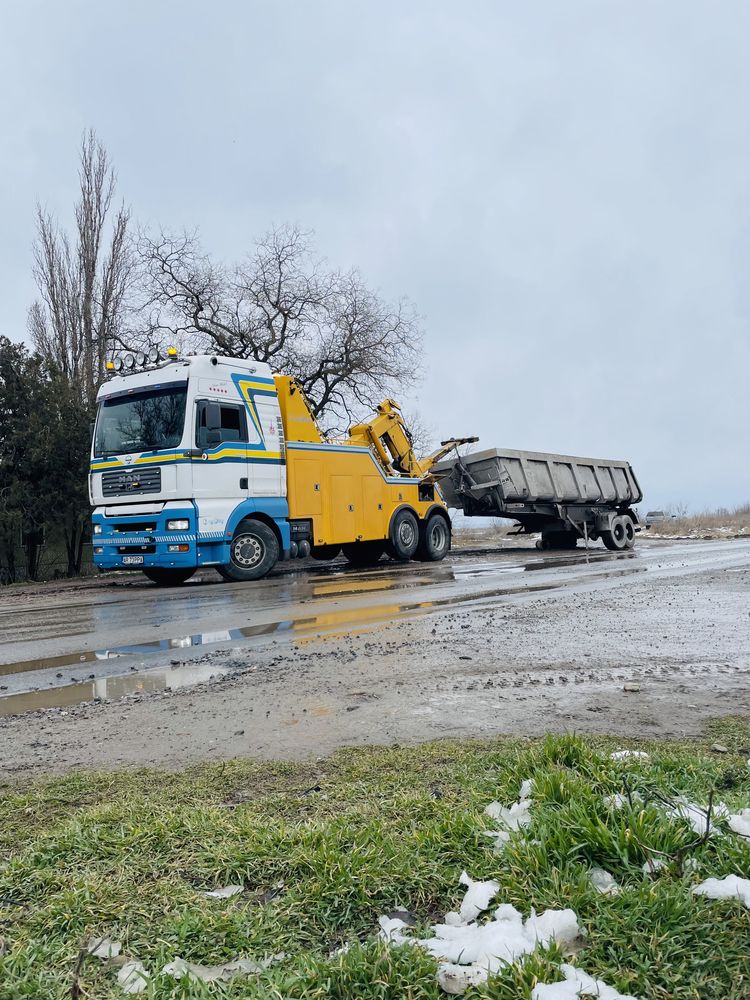
[[357,271],[326,268],[296,227],[267,233],[247,260],[214,264],[191,235],[144,235],[149,336],[266,362],[298,379],[316,415],[341,428],[420,375],[422,331]]

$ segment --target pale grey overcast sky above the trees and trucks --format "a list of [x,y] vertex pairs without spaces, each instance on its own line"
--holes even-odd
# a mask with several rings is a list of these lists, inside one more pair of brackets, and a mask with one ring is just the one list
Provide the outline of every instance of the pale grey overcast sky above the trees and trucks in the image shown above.
[[[0,333],[93,126],[140,222],[314,229],[424,317],[436,436],[750,500],[750,4],[0,4]],[[412,405],[413,405],[412,401]]]

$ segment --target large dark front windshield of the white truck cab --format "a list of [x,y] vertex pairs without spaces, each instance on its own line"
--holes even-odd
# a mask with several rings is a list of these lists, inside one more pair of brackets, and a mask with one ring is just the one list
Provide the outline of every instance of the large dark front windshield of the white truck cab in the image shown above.
[[176,448],[185,423],[187,384],[114,396],[99,404],[94,456]]

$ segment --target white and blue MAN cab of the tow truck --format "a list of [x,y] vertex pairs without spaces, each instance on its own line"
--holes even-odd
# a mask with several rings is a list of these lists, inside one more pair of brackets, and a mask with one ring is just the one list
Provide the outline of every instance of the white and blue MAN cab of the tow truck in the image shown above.
[[230,563],[235,529],[290,547],[284,432],[268,365],[200,355],[99,390],[89,490],[94,561],[179,583]]

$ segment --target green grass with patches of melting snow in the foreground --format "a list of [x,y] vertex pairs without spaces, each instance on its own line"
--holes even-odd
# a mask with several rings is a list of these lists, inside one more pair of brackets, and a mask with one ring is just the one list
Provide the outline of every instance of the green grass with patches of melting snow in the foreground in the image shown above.
[[[531,742],[441,742],[415,749],[347,750],[315,765],[236,761],[178,774],[78,774],[0,788],[0,998],[67,1000],[89,936],[121,940],[152,971],[176,955],[216,964],[284,951],[253,979],[188,985],[152,981],[148,998],[333,997],[426,1000],[442,996],[435,962],[418,948],[387,948],[377,918],[395,906],[423,929],[457,905],[458,876],[496,878],[497,902],[572,907],[586,931],[577,961],[624,992],[648,998],[750,996],[750,912],[737,901],[692,896],[709,875],[747,875],[750,845],[714,837],[655,880],[648,845],[677,851],[693,839],[648,801],[651,791],[705,803],[709,789],[750,805],[750,768],[739,753],[750,727],[716,725],[691,744],[639,743],[647,762],[616,764],[621,742],[556,737]],[[532,826],[494,854],[482,815],[535,781]],[[624,782],[644,806],[608,810]],[[312,788],[319,790],[311,791]],[[623,885],[602,896],[587,869]],[[230,882],[245,892],[209,900]],[[344,942],[344,955],[329,958]],[[560,955],[538,953],[467,994],[516,1000],[537,977],[554,981]],[[80,996],[120,997],[115,972],[82,965]]]

